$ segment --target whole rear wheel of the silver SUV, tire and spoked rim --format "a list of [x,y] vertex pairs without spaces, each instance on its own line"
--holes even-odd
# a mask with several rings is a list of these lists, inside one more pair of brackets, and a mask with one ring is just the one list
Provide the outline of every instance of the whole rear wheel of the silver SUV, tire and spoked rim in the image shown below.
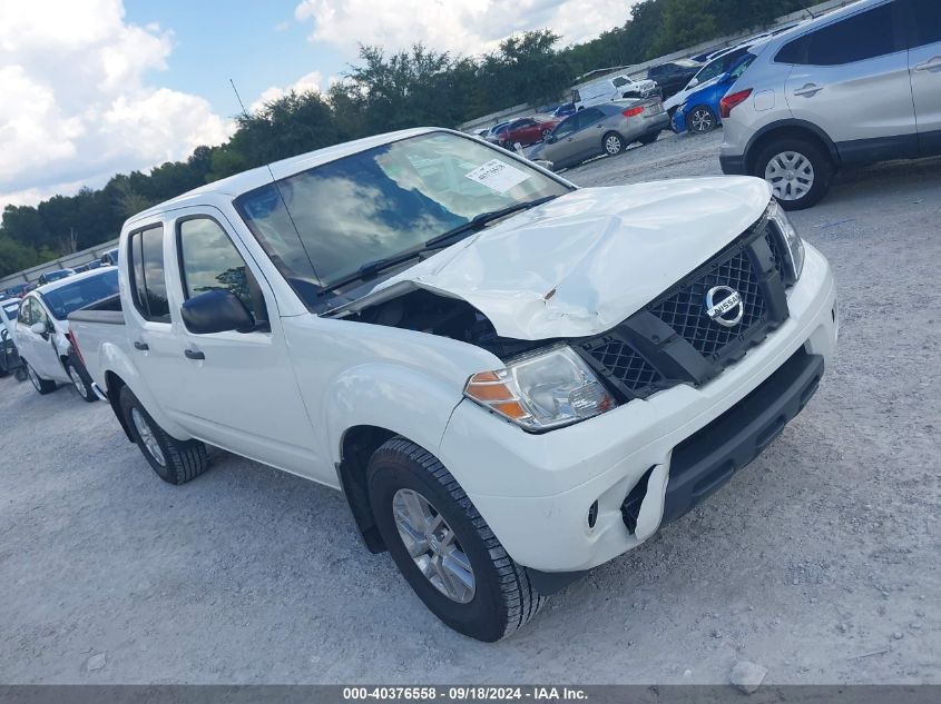
[[826,195],[833,178],[833,165],[813,142],[783,139],[761,151],[753,173],[771,184],[782,208],[802,210]]

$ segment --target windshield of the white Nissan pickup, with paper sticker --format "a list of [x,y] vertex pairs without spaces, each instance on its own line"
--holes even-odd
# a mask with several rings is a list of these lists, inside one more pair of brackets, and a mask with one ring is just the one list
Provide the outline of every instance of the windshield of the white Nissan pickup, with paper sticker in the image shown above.
[[432,132],[375,147],[236,199],[252,234],[308,305],[373,261],[569,188],[492,147]]

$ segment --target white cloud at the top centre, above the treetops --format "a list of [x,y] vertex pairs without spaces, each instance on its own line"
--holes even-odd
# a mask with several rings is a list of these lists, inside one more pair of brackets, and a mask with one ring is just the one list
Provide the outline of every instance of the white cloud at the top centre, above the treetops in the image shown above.
[[389,50],[422,42],[439,51],[479,54],[510,34],[548,28],[565,43],[585,41],[624,24],[638,0],[302,0],[294,16],[312,21],[312,42],[333,44],[347,57],[356,44]]

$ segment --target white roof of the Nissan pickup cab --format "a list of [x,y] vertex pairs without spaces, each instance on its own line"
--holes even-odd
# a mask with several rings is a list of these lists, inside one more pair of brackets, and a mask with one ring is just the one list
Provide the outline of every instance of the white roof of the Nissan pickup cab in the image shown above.
[[363,139],[355,139],[353,141],[334,145],[332,147],[324,147],[323,149],[308,151],[296,157],[282,159],[281,161],[274,161],[266,166],[248,169],[247,171],[235,173],[234,176],[219,179],[218,181],[206,184],[205,186],[200,186],[199,188],[194,188],[193,190],[186,191],[185,194],[182,194],[176,198],[165,200],[164,202],[157,204],[156,206],[153,206],[147,210],[143,210],[141,212],[131,216],[128,219],[128,222],[134,222],[136,220],[147,218],[149,216],[164,212],[166,210],[170,210],[175,207],[196,205],[199,201],[200,196],[222,195],[235,198],[236,196],[241,196],[242,194],[248,192],[249,190],[253,190],[261,186],[265,186],[266,184],[271,184],[272,173],[274,175],[275,179],[285,178],[287,176],[293,176],[294,173],[298,173],[306,169],[312,169],[316,166],[321,166],[322,163],[326,163],[327,161],[335,161],[336,159],[342,159],[343,157],[349,157],[350,155],[354,155],[360,151],[365,151],[366,149],[372,149],[373,147],[388,145],[389,142],[398,141],[406,137],[424,135],[437,129],[443,128],[416,127],[413,129],[399,130],[396,132],[385,132],[383,135],[364,137]]

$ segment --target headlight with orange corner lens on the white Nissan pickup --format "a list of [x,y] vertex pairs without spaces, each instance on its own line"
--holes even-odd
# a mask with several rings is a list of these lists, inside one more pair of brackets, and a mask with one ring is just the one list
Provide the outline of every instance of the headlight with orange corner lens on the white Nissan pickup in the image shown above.
[[464,395],[528,430],[570,425],[617,404],[568,346],[520,357],[468,379]]

